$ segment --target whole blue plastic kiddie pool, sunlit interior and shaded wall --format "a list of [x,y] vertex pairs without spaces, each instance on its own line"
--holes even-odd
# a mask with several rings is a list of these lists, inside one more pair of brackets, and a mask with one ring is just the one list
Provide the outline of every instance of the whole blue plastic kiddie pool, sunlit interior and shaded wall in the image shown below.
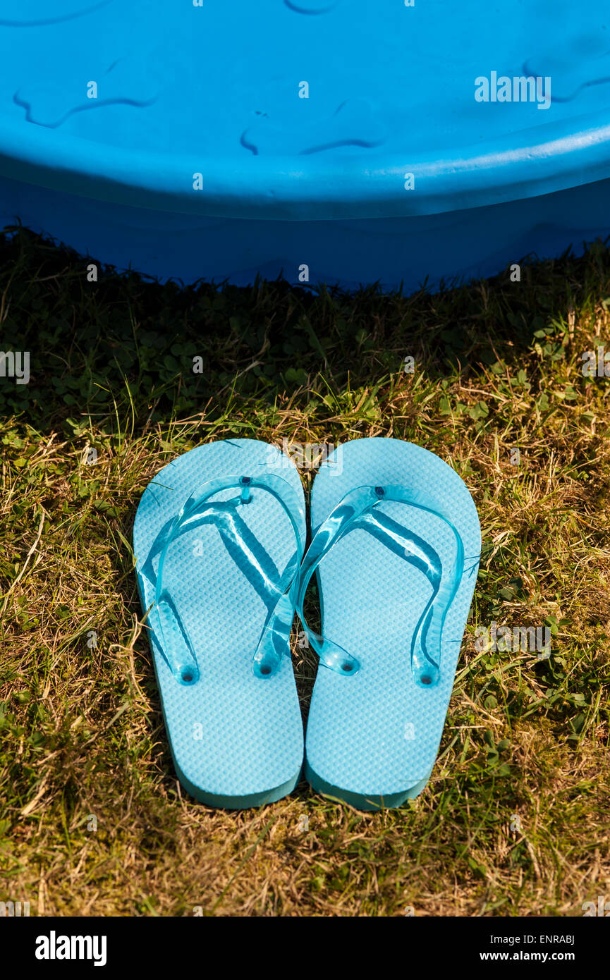
[[0,223],[417,288],[610,233],[608,0],[0,0]]

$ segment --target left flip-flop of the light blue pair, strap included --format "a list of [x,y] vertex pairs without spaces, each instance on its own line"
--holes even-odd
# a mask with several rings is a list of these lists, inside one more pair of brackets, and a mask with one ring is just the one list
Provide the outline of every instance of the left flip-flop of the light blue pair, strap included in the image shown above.
[[157,474],[133,527],[178,778],[197,800],[280,800],[303,762],[289,636],[306,540],[296,467],[265,442],[199,446]]

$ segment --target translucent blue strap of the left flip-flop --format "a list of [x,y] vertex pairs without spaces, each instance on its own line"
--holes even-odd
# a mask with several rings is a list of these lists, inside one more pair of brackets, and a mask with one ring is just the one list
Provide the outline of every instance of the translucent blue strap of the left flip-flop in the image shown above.
[[[231,500],[212,501],[225,490],[237,488],[239,496]],[[261,543],[241,520],[241,507],[256,506],[258,491],[271,494],[289,517],[296,541],[296,550],[280,577]],[[298,569],[302,546],[299,523],[305,521],[303,504],[289,483],[280,476],[265,473],[260,479],[250,476],[229,476],[208,480],[190,495],[164,534],[158,550],[161,555],[155,585],[155,603],[151,611],[153,628],[158,629],[161,650],[180,684],[194,684],[199,679],[199,666],[193,644],[182,623],[170,591],[164,585],[164,568],[168,550],[180,534],[202,523],[214,523],[223,537],[233,560],[252,582],[264,599],[268,615],[252,658],[252,669],[259,677],[272,676],[280,664],[290,638],[294,616]],[[275,572],[275,574],[274,574]]]

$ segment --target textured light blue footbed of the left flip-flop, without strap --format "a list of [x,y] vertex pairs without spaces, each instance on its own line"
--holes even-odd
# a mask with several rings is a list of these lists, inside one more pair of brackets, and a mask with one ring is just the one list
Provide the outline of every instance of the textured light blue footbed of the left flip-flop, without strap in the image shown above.
[[[234,439],[197,447],[157,474],[142,495],[133,527],[137,579],[145,612],[153,603],[160,532],[204,481],[232,474],[274,473],[302,500],[295,466],[264,442]],[[235,497],[225,491],[215,500]],[[287,515],[267,493],[252,492],[240,508],[279,573],[295,551]],[[302,544],[306,528],[301,521]],[[152,565],[152,567],[151,567]],[[212,524],[182,533],[168,550],[164,586],[191,638],[199,680],[181,685],[156,636],[150,635],[163,713],[178,777],[205,803],[228,808],[279,799],[294,787],[303,760],[303,724],[289,654],[273,677],[252,672],[266,607],[229,557]],[[280,575],[278,576],[280,577]]]

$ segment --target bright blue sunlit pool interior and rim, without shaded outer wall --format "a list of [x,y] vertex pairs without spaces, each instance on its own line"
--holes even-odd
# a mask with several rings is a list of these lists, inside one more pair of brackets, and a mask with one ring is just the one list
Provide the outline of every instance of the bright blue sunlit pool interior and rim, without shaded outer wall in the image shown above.
[[[607,0],[0,0],[0,173],[299,221],[550,193],[610,175],[608,14]],[[516,97],[528,76],[539,91]]]

